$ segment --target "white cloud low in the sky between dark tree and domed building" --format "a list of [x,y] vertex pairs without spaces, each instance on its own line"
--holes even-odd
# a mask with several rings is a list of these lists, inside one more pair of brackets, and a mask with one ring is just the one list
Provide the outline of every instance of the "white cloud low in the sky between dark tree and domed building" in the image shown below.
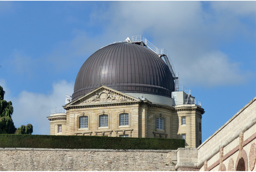
[[65,95],[73,93],[74,83],[62,80],[53,84],[50,94],[39,94],[22,91],[18,97],[11,98],[14,112],[12,119],[16,128],[32,124],[33,134],[50,134],[51,109],[65,105]]

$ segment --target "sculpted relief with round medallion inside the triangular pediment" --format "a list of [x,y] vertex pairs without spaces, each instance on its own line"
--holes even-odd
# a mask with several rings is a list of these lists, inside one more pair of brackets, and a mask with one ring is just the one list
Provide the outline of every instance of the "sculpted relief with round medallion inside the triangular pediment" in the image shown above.
[[112,92],[104,90],[100,93],[95,93],[94,96],[84,100],[83,102],[79,103],[79,105],[94,104],[94,103],[125,102],[125,101],[131,101],[131,100],[121,95],[117,95]]

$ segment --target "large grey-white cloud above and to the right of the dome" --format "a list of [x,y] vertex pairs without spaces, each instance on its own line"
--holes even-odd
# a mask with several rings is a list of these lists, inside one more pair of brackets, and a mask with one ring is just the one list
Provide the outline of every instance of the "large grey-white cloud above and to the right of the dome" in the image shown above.
[[210,6],[215,11],[204,11],[200,1],[114,1],[110,8],[95,10],[91,22],[104,26],[103,36],[109,40],[149,35],[151,38],[145,37],[151,43],[168,50],[183,84],[241,84],[248,72],[218,49],[219,42],[245,33],[253,35],[239,18],[225,12],[254,15],[255,2],[241,3],[212,1]]

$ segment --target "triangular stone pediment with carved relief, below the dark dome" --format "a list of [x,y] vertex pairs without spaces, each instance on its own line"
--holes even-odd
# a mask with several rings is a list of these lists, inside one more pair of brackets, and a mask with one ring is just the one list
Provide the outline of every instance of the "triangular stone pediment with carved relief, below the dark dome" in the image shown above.
[[107,86],[101,85],[98,88],[90,91],[89,93],[81,96],[80,98],[71,101],[66,105],[76,106],[76,105],[91,105],[91,104],[106,104],[106,103],[121,103],[121,102],[134,102],[141,101],[138,98],[130,96],[128,94],[122,93],[115,89],[109,88]]

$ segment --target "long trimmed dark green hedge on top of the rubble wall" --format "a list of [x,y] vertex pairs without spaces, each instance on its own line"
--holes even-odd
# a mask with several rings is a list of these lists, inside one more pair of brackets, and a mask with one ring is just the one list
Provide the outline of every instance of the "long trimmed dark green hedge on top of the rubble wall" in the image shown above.
[[174,138],[0,134],[0,147],[176,150],[179,147],[185,147],[185,140]]

